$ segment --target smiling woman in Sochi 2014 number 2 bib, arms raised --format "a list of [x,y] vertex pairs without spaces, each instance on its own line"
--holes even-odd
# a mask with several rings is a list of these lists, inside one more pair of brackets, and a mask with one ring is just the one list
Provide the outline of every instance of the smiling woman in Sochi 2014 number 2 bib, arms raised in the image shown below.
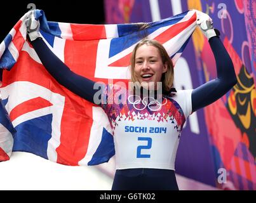
[[[119,88],[106,87],[101,101],[93,100],[98,93],[93,88],[95,82],[72,72],[50,51],[39,35],[39,22],[33,13],[27,20],[31,44],[48,72],[73,93],[100,105],[109,117],[116,150],[112,190],[179,190],[174,163],[185,120],[236,84],[231,58],[213,29],[212,19],[198,13],[197,22],[215,56],[216,79],[196,89],[176,91],[173,64],[165,48],[145,39],[135,46],[131,56],[131,82],[138,85],[126,89],[123,102],[110,103],[107,98]],[[140,91],[136,91],[137,86],[142,87]],[[145,96],[145,89],[151,89],[151,95]]]

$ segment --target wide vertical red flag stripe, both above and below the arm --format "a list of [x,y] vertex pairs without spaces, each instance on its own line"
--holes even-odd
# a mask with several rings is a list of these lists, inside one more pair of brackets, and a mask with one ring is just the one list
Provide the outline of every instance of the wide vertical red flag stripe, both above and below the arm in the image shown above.
[[[74,27],[72,27],[74,29]],[[74,34],[74,30],[73,34]],[[91,32],[93,34],[93,32]],[[74,35],[73,35],[74,37]],[[81,36],[80,36],[81,37]],[[85,37],[85,36],[83,36]],[[65,43],[65,64],[76,74],[82,75],[88,79],[95,81],[95,67],[97,57],[98,40],[88,41],[66,41]],[[87,58],[87,60],[84,60]],[[84,87],[86,88],[86,87]],[[73,94],[74,95],[74,94]],[[88,149],[90,139],[90,129],[93,123],[92,119],[92,103],[83,100],[77,96],[77,105],[74,101],[65,100],[63,121],[68,124],[61,126],[62,133],[60,137],[61,145],[56,149],[58,153],[57,162],[68,165],[78,165],[79,160],[83,159]],[[70,119],[72,118],[72,119]],[[67,148],[66,146],[69,146]],[[79,149],[79,150],[76,150]],[[72,151],[69,151],[72,150]],[[67,162],[69,160],[69,163]],[[71,162],[72,160],[72,162]]]

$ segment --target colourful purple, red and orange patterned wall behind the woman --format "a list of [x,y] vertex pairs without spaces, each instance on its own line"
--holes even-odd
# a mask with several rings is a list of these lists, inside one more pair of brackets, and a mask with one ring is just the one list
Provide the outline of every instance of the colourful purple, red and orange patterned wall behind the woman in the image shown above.
[[[213,19],[238,83],[192,114],[182,132],[176,172],[224,190],[256,190],[256,1],[105,0],[107,23],[151,22],[190,9]],[[180,61],[175,68],[184,70],[187,64],[192,88],[216,77],[212,51],[199,29]],[[182,86],[179,75],[176,81]]]

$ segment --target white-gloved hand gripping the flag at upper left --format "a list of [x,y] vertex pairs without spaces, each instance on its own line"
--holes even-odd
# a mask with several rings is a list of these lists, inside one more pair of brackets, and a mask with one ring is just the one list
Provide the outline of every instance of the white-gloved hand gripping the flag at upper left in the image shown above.
[[36,20],[34,16],[34,11],[30,11],[30,13],[27,16],[27,19],[25,20],[27,34],[29,35],[30,41],[34,41],[38,37],[41,37],[39,34],[40,22],[39,20]]

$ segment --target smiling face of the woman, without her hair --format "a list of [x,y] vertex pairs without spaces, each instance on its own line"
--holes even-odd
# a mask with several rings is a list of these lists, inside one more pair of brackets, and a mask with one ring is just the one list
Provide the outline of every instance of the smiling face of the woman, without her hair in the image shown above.
[[167,66],[163,64],[158,48],[143,44],[137,49],[134,72],[138,82],[144,88],[149,88],[150,85],[153,85],[154,89],[156,89],[156,82],[161,82],[162,74],[166,71]]

